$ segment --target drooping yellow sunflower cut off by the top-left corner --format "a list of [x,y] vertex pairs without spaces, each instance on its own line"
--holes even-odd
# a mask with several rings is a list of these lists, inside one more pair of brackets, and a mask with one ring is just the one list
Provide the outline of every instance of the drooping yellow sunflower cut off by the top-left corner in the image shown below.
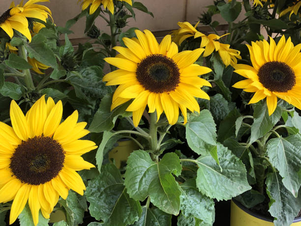
[[48,16],[51,16],[51,11],[44,5],[35,4],[48,0],[29,0],[23,5],[23,0],[20,4],[15,6],[12,2],[8,10],[0,16],[0,28],[8,34],[10,38],[13,37],[13,29],[22,33],[31,41],[30,30],[28,28],[27,17],[40,19],[46,22]]

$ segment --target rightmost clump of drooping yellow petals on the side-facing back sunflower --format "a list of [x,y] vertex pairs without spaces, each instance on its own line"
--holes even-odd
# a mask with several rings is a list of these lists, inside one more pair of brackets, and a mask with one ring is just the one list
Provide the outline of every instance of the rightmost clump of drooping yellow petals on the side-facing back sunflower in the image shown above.
[[218,54],[226,66],[231,65],[234,67],[237,64],[237,58],[241,59],[241,52],[231,49],[229,44],[220,43]]

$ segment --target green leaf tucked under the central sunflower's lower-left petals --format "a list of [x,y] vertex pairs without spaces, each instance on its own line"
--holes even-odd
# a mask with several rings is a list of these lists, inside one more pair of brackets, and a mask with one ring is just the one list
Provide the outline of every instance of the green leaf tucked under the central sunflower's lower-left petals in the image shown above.
[[119,115],[128,114],[128,112],[125,112],[125,109],[129,103],[121,104],[111,111],[112,97],[112,94],[108,94],[102,98],[89,127],[90,132],[109,131],[114,128],[115,121]]

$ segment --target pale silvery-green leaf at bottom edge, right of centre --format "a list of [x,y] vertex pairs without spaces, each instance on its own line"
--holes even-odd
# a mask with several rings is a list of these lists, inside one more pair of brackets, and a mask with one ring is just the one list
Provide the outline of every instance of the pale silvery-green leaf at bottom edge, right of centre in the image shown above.
[[214,201],[200,193],[194,179],[181,184],[181,213],[186,217],[195,217],[208,225],[214,222]]

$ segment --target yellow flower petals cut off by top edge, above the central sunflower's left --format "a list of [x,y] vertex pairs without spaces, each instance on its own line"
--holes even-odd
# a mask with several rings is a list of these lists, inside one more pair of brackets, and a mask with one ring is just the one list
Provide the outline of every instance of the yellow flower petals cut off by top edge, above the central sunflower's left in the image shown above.
[[[85,10],[91,4],[89,14],[93,14],[96,11],[96,9],[100,6],[100,4],[103,4],[103,7],[105,9],[108,9],[112,14],[114,13],[113,0],[78,0],[78,2],[80,1],[83,1],[81,4],[82,10]],[[132,0],[119,0],[119,1],[125,1],[130,5],[132,5]]]

